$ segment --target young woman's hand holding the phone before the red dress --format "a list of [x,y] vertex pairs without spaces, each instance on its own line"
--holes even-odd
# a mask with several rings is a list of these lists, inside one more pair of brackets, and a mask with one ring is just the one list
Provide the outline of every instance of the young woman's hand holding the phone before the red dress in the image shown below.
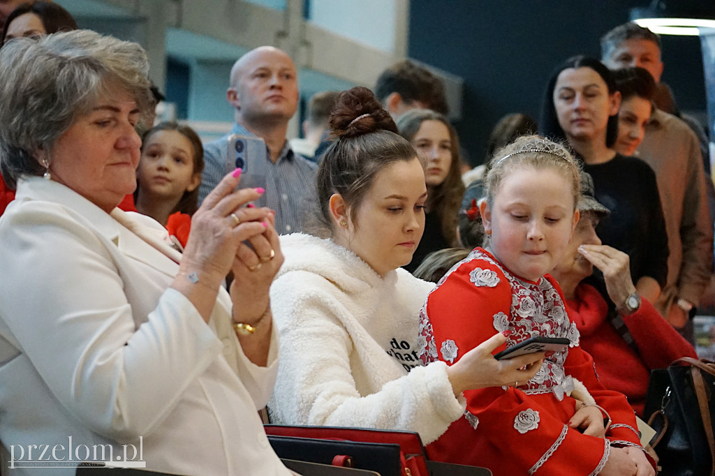
[[464,354],[454,365],[447,367],[454,395],[460,395],[465,390],[516,386],[519,382],[523,385],[536,375],[543,363],[544,352],[496,360],[492,352],[504,342],[506,335],[495,334]]

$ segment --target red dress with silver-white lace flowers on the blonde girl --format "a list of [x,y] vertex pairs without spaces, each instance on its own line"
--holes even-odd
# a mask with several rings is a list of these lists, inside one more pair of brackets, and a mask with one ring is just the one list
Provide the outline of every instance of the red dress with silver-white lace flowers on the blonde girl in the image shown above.
[[[532,336],[571,341],[524,385],[464,392],[465,416],[428,446],[433,460],[488,467],[494,475],[596,475],[611,446],[642,449],[633,410],[626,397],[598,382],[552,277],[525,281],[476,248],[429,295],[420,329],[423,360],[448,365],[506,329],[512,334],[495,352]],[[606,440],[568,427],[576,396],[608,412],[613,423]]]

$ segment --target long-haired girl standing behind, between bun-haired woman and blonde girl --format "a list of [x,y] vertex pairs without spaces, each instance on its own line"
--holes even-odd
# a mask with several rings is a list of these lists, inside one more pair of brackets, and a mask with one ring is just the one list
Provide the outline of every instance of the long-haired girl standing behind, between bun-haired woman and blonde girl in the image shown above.
[[414,272],[430,252],[458,246],[457,213],[464,194],[460,178],[457,132],[442,114],[413,109],[397,120],[400,135],[420,154],[425,165],[427,202],[425,230],[405,269]]

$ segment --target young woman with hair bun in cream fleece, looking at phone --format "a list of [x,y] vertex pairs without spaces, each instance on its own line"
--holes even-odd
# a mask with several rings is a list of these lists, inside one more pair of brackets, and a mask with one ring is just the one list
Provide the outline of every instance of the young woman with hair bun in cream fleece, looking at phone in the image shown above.
[[[337,137],[317,172],[315,235],[281,238],[271,286],[281,362],[272,421],[419,432],[438,438],[465,411],[462,392],[528,380],[543,354],[497,361],[497,333],[457,364],[420,365],[420,307],[434,284],[400,267],[425,224],[427,187],[410,143],[369,89],[343,91]],[[522,367],[523,370],[520,370]]]

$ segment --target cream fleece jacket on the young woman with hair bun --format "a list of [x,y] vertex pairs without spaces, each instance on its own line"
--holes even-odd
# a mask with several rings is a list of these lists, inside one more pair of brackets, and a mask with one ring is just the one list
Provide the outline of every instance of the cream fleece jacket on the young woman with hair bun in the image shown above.
[[272,422],[415,431],[426,445],[463,415],[446,365],[423,367],[417,357],[420,308],[434,284],[404,269],[383,279],[308,234],[282,236],[281,249],[270,293],[281,342]]

